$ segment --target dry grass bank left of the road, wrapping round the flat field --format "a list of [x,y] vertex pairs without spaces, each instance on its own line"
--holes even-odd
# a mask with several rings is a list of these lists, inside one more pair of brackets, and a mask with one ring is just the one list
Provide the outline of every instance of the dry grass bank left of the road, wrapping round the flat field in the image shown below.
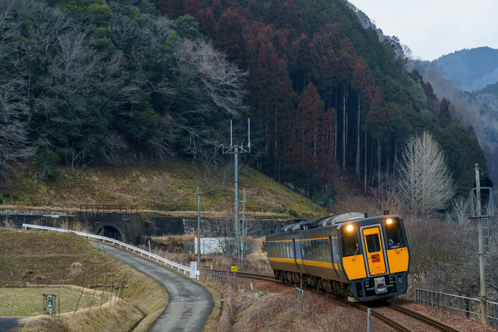
[[[84,237],[74,233],[0,231],[0,253],[0,285],[25,285],[29,280],[31,284],[81,286],[102,283],[109,273],[118,275],[115,284],[119,278],[125,278],[124,301],[115,303],[115,291],[110,307],[91,310],[90,314],[88,308],[77,311],[75,316],[61,314],[60,319],[36,316],[24,321],[23,331],[114,332],[131,331],[135,326],[145,331],[167,305],[167,292],[157,282],[98,252]],[[106,284],[112,282],[109,277]],[[76,289],[81,291],[81,287]],[[93,294],[94,290],[88,292]],[[98,288],[97,293],[101,292]]]

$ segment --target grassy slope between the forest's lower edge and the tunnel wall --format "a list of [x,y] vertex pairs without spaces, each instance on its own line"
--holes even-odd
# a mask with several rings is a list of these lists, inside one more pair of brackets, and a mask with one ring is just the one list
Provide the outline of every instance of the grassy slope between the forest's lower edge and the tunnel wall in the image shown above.
[[[233,210],[233,170],[223,185],[209,194],[205,169],[185,161],[95,166],[73,179],[69,167],[42,180],[27,172],[0,193],[0,203],[19,207],[75,209],[80,204],[137,205],[149,213],[197,211],[199,186],[203,213]],[[250,167],[240,172],[240,190],[247,190],[246,211],[253,218],[312,218],[326,214],[313,202]]]

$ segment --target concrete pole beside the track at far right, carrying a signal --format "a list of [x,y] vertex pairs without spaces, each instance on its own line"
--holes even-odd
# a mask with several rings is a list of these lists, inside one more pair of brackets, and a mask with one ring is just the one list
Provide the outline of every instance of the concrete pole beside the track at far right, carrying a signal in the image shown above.
[[486,274],[483,239],[483,219],[481,215],[481,169],[476,164],[476,206],[477,206],[477,229],[479,233],[479,273],[481,275],[481,318],[483,324],[488,324],[488,303],[486,300]]

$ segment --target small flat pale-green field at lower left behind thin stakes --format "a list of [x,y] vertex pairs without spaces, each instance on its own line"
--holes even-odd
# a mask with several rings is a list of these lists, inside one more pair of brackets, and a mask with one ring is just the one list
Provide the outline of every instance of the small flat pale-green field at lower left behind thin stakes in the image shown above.
[[[60,288],[0,288],[0,316],[36,316],[42,314],[43,295],[57,295],[55,309],[60,313],[72,312],[78,304],[81,292],[74,289]],[[102,292],[96,293],[92,306],[100,306]],[[98,298],[98,301],[97,301]],[[81,294],[78,309],[89,308],[92,294]],[[103,301],[107,302],[106,299]]]

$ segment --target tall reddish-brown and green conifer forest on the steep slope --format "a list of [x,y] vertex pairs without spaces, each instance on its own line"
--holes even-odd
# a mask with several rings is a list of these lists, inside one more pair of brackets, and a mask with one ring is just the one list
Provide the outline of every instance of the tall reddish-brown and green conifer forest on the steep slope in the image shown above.
[[254,165],[275,179],[318,190],[330,184],[327,166],[336,161],[373,185],[392,174],[404,140],[423,130],[443,146],[462,190],[472,163],[486,163],[472,130],[451,123],[431,89],[411,78],[406,60],[364,29],[346,1],[156,4],[173,19],[192,15],[249,72],[249,113],[259,131]]

